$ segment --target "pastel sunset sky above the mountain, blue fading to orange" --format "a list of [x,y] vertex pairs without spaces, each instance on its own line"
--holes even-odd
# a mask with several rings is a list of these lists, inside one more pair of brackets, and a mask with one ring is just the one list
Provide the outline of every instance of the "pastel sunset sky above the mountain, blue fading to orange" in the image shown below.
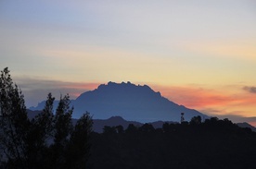
[[0,68],[28,107],[109,81],[256,127],[254,0],[0,0]]

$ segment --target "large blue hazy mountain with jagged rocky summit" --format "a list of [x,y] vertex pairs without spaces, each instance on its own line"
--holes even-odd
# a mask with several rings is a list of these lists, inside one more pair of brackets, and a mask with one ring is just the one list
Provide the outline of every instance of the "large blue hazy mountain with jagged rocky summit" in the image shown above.
[[[131,82],[99,85],[94,91],[86,91],[76,100],[71,101],[74,106],[73,118],[79,118],[85,111],[93,115],[94,119],[107,119],[111,116],[122,116],[130,121],[142,123],[153,121],[180,121],[181,113],[185,113],[185,120],[190,121],[193,116],[200,115],[196,110],[173,103],[153,91],[147,85],[134,85]],[[44,102],[31,110],[42,110]],[[57,102],[55,103],[55,107]]]

